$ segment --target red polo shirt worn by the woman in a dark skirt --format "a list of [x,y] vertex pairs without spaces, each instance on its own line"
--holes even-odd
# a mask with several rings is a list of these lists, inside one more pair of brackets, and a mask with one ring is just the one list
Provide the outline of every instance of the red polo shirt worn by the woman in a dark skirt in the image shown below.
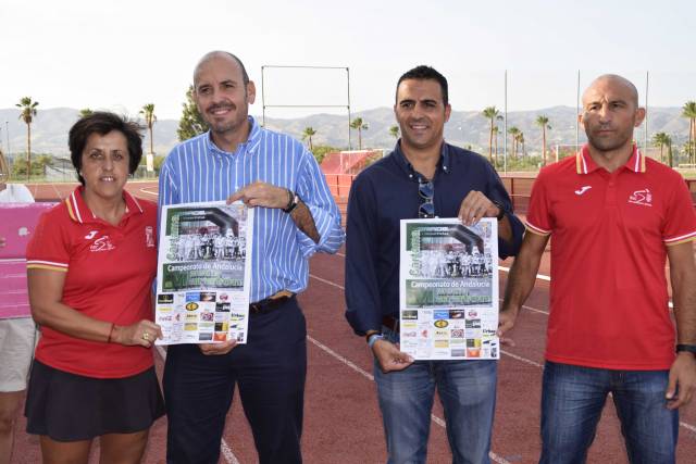
[[[152,319],[157,272],[157,205],[123,196],[126,213],[113,226],[95,217],[78,187],[44,213],[27,247],[27,267],[67,273],[62,302],[100,321],[130,325]],[[121,378],[152,366],[142,347],[82,340],[41,328],[36,359],[87,377]]]

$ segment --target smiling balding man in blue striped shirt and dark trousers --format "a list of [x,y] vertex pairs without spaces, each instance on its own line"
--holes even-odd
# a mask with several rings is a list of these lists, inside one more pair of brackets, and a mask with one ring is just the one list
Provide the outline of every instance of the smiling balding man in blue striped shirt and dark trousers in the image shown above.
[[308,259],[336,252],[345,235],[314,158],[248,115],[254,97],[239,59],[206,54],[194,98],[210,130],[175,147],[160,172],[160,205],[227,199],[257,208],[247,344],[169,348],[167,463],[217,462],[235,385],[259,461],[302,460],[307,331],[295,294],[307,288]]

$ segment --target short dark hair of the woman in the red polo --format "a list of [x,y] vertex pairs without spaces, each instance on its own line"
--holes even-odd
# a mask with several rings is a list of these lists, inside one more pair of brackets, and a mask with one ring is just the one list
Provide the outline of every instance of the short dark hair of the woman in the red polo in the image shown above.
[[105,111],[97,111],[76,122],[70,128],[67,146],[70,147],[70,158],[77,172],[77,179],[85,185],[85,179],[79,174],[83,168],[83,151],[87,145],[87,139],[92,134],[105,136],[112,130],[117,130],[126,138],[128,147],[128,173],[133,174],[142,159],[142,126],[135,121],[128,121],[125,116]]

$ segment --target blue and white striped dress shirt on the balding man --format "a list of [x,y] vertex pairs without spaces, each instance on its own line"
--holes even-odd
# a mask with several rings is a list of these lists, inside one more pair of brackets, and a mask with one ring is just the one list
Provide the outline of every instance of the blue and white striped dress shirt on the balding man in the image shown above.
[[260,301],[283,289],[304,290],[309,256],[335,253],[345,234],[314,156],[291,137],[260,127],[251,116],[249,122],[249,138],[234,153],[217,148],[210,133],[174,147],[160,171],[159,204],[225,200],[257,180],[297,192],[312,213],[320,241],[314,243],[282,210],[257,208],[249,297]]

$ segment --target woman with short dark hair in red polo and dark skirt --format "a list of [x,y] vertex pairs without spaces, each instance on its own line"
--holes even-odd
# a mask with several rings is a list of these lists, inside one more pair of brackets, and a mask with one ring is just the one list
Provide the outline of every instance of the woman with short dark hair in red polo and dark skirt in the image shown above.
[[139,126],[94,113],[70,130],[80,186],[45,213],[27,249],[41,339],[27,392],[27,431],[45,462],[139,462],[163,415],[152,360],[157,205],[124,190],[142,156]]

